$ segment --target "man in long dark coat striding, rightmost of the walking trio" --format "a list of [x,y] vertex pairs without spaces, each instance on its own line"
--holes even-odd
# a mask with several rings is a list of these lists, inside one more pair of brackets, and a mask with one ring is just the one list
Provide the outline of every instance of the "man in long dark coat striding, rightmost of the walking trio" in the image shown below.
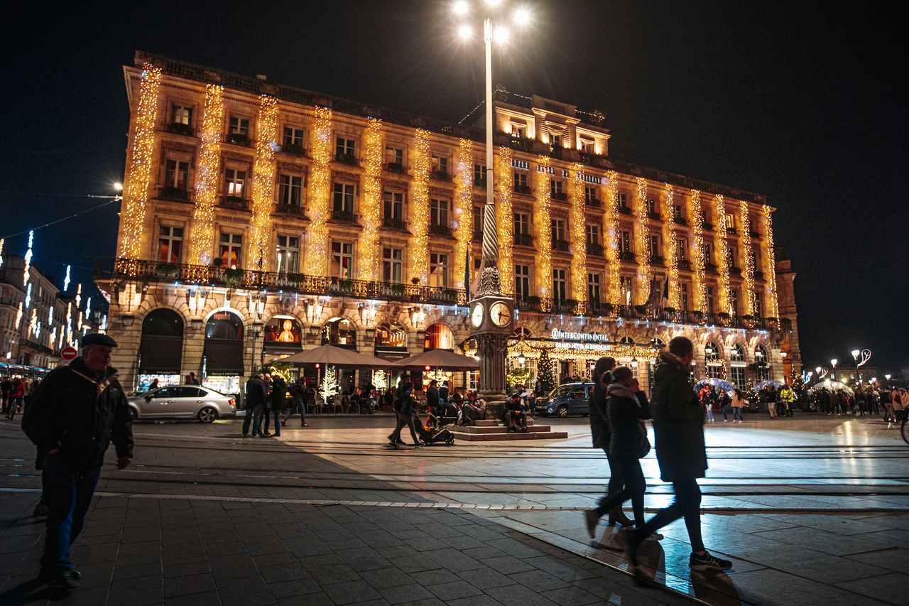
[[707,470],[707,452],[704,408],[688,382],[694,346],[687,338],[676,337],[669,341],[668,349],[660,354],[654,372],[651,412],[660,478],[673,483],[675,501],[631,533],[628,558],[632,568],[637,569],[637,550],[641,542],[666,524],[684,518],[692,550],[688,566],[696,571],[725,571],[732,568],[733,563],[710,555],[704,550],[701,538],[701,489],[697,479],[704,478]]

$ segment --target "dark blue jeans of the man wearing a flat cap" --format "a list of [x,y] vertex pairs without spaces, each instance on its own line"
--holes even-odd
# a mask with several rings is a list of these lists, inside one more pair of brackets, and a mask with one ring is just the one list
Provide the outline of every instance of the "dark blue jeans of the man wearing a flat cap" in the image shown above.
[[78,469],[59,452],[45,455],[41,484],[47,504],[47,530],[42,572],[65,574],[73,570],[70,548],[85,526],[85,514],[100,475],[100,467]]

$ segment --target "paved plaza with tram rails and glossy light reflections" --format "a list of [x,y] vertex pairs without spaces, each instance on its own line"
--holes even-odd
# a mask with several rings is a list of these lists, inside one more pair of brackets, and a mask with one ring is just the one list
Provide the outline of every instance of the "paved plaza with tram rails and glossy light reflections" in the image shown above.
[[[65,597],[35,581],[40,477],[16,419],[0,424],[0,604],[905,603],[898,432],[747,419],[705,428],[704,542],[733,569],[691,571],[680,520],[648,541],[647,582],[621,530],[584,529],[608,469],[587,419],[546,419],[567,439],[398,450],[385,415],[291,419],[277,439],[242,439],[239,420],[137,423],[133,465],[108,453]],[[672,495],[642,462],[649,516]]]

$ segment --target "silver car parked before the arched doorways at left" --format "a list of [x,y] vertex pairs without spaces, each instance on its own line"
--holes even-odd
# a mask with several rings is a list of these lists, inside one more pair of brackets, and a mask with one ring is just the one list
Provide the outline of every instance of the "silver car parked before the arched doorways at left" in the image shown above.
[[198,385],[168,385],[129,399],[133,419],[215,419],[236,416],[236,400]]

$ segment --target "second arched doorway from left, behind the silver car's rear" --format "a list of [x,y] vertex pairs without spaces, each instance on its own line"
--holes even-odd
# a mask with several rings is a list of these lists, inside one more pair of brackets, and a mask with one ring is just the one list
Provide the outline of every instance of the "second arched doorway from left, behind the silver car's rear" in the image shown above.
[[205,322],[202,384],[225,394],[240,393],[243,364],[243,318],[233,311],[215,311]]

